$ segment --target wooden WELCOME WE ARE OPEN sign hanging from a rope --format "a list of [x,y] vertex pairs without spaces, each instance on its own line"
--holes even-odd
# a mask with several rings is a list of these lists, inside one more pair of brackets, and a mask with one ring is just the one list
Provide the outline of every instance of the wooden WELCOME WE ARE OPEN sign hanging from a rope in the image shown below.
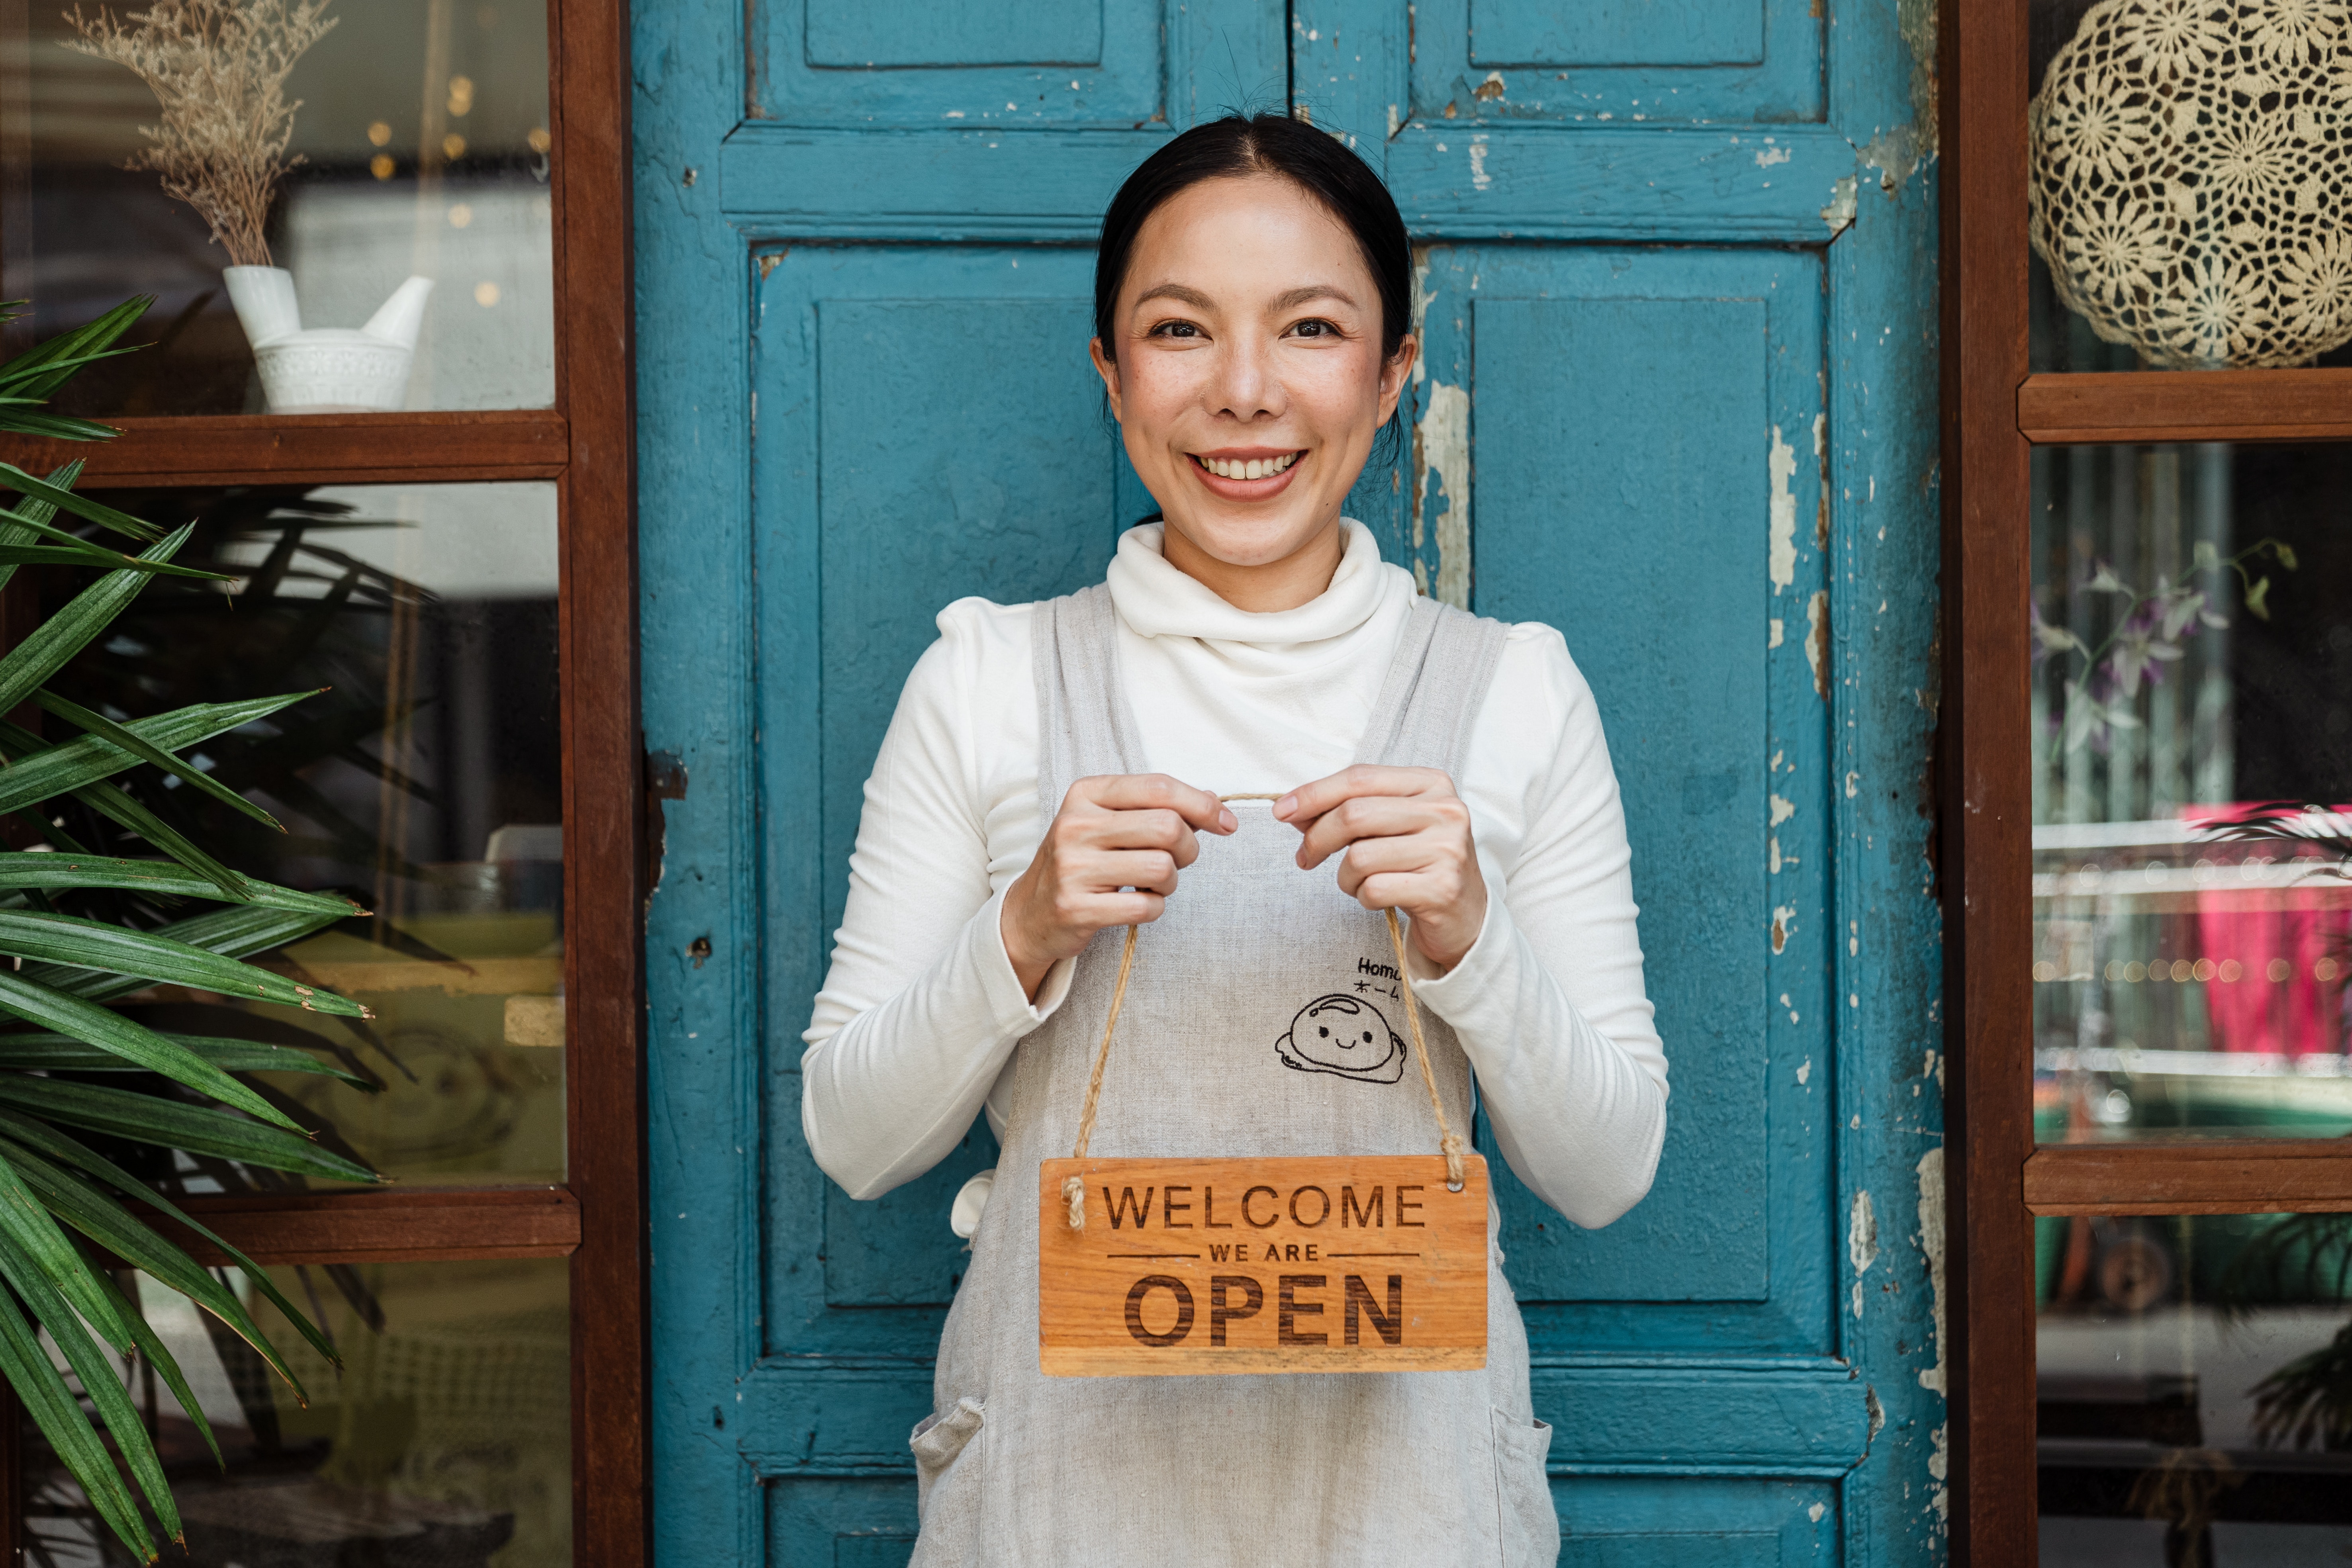
[[[1049,1159],[1037,1366],[1049,1378],[1486,1366],[1486,1161],[1437,1154]],[[1065,1178],[1087,1182],[1070,1229]]]

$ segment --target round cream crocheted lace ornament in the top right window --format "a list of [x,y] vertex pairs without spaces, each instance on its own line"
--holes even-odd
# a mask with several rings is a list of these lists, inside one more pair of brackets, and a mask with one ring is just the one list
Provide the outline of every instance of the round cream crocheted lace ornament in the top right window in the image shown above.
[[2027,120],[2058,299],[2164,369],[2352,339],[2352,5],[2103,0]]

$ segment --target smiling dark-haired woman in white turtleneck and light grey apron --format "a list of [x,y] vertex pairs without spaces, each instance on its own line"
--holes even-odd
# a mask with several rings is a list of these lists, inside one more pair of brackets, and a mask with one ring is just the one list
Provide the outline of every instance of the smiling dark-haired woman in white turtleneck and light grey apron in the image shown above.
[[1592,693],[1559,632],[1416,597],[1341,517],[1416,353],[1381,181],[1294,120],[1185,132],[1103,219],[1094,327],[1162,517],[1105,585],[941,611],[802,1056],[809,1150],[851,1197],[983,1105],[1004,1140],[1000,1192],[957,1199],[915,1563],[1552,1563],[1498,1251],[1477,1373],[1037,1371],[1037,1164],[1073,1147],[1129,924],[1094,1154],[1432,1152],[1418,1067],[1277,1048],[1303,1001],[1392,966],[1385,910],[1451,1124],[1475,1072],[1548,1204],[1606,1225],[1665,1133]]

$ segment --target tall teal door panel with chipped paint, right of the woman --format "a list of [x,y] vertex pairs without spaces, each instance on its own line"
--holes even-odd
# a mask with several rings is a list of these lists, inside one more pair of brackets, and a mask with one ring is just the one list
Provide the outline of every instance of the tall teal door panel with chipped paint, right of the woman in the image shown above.
[[1406,494],[1439,592],[1562,628],[1592,684],[1675,1081],[1616,1225],[1498,1175],[1512,1286],[1548,1347],[1825,1352],[1828,583],[1797,527],[1823,515],[1818,261],[1430,247],[1423,299]]

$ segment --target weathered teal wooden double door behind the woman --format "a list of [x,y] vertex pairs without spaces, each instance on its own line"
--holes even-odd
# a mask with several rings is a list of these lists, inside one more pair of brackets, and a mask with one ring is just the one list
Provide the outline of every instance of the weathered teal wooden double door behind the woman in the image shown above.
[[797,1032],[934,611],[1098,581],[1150,510],[1084,362],[1089,242],[1230,106],[1388,176],[1425,355],[1352,510],[1428,592],[1566,632],[1625,790],[1658,1185],[1578,1232],[1501,1178],[1562,1561],[1938,1556],[1924,16],[640,7],[661,1561],[913,1549],[948,1199],[995,1145],[849,1201]]

